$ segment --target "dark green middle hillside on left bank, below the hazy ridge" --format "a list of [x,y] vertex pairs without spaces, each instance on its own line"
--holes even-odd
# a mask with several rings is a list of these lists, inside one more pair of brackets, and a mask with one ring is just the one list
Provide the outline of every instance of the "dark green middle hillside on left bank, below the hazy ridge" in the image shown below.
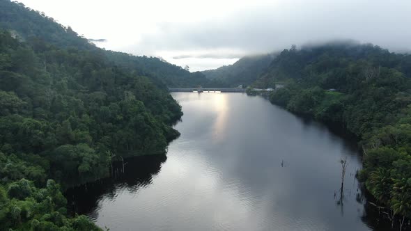
[[176,101],[147,77],[111,65],[100,50],[16,42],[10,33],[0,34],[0,54],[12,57],[6,79],[21,77],[6,87],[10,91],[0,90],[5,182],[27,177],[44,183],[47,171],[68,184],[96,180],[109,173],[106,150],[162,153],[178,136],[170,127],[182,115]]

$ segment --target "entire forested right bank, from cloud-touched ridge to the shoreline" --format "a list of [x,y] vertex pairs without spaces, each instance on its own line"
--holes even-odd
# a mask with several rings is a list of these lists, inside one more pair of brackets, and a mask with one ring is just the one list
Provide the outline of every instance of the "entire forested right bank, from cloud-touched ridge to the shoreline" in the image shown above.
[[410,77],[411,55],[335,43],[285,49],[254,85],[287,82],[270,95],[272,103],[358,136],[364,150],[359,179],[403,222],[411,218]]

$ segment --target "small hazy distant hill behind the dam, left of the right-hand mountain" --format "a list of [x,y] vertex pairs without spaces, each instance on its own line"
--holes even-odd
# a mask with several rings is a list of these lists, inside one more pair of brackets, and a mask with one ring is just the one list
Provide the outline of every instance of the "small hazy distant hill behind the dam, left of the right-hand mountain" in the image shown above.
[[245,56],[233,65],[219,67],[215,70],[205,70],[203,74],[208,79],[219,81],[222,86],[249,86],[258,79],[260,74],[265,72],[273,58],[274,54]]

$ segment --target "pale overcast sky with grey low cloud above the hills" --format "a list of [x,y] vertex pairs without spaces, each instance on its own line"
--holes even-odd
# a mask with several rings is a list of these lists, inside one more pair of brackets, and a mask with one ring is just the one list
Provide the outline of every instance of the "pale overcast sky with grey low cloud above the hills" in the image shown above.
[[98,46],[191,71],[312,42],[411,50],[411,0],[20,0]]

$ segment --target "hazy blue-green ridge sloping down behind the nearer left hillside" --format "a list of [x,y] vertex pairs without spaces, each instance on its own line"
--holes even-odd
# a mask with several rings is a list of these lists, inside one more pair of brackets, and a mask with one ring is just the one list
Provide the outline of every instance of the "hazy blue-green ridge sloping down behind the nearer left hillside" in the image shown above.
[[107,61],[134,72],[155,79],[157,86],[184,87],[206,85],[208,79],[201,72],[190,73],[182,67],[166,63],[160,58],[148,56],[132,56],[129,54],[105,51],[95,47],[70,26],[58,24],[44,13],[26,8],[22,3],[0,0],[0,28],[8,29],[13,37],[19,40],[40,38],[57,47],[75,47],[77,49],[100,52],[107,56]]

